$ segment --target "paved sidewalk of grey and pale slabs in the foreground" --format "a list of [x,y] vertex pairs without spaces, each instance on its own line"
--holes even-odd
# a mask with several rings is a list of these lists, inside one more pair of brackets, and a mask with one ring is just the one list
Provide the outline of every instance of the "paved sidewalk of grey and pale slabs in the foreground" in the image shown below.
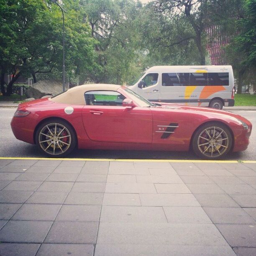
[[256,164],[0,160],[0,255],[256,255]]

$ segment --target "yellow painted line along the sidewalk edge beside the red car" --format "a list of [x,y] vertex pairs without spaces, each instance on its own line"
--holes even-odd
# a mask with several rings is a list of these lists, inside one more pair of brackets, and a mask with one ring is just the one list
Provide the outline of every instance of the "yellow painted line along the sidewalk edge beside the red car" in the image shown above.
[[44,158],[44,157],[0,157],[0,160],[61,160],[61,161],[117,161],[117,162],[179,162],[179,163],[245,163],[256,164],[250,160],[171,160],[171,159],[95,159],[95,158]]

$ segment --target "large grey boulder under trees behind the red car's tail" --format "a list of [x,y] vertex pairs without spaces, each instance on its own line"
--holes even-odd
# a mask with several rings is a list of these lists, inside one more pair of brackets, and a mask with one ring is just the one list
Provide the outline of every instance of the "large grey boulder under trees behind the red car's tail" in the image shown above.
[[[66,88],[66,90],[68,87]],[[26,96],[31,98],[39,99],[41,97],[44,97],[46,95],[54,96],[56,94],[59,94],[63,91],[62,82],[59,80],[54,79],[46,79],[36,82],[35,84],[32,84],[27,90],[26,90]],[[51,97],[50,96],[50,97]]]

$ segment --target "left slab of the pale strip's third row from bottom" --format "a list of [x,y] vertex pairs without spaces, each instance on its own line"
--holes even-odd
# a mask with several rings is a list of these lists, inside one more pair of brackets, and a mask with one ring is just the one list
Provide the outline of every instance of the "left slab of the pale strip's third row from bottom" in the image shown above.
[[167,223],[162,207],[103,205],[101,222]]

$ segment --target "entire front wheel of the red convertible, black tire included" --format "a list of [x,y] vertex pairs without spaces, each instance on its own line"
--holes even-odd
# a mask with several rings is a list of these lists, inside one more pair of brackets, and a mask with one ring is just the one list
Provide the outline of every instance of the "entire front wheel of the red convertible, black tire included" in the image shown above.
[[203,159],[222,158],[232,148],[233,138],[228,127],[210,122],[200,126],[192,138],[195,154]]

